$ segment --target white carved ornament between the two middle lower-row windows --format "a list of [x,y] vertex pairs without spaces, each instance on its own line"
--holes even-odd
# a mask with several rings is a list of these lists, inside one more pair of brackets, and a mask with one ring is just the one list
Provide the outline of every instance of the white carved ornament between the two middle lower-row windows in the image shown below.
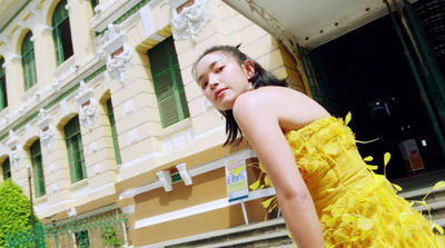
[[92,89],[85,81],[80,81],[79,92],[76,100],[79,103],[79,121],[85,128],[92,128],[99,118],[98,101],[92,98]]

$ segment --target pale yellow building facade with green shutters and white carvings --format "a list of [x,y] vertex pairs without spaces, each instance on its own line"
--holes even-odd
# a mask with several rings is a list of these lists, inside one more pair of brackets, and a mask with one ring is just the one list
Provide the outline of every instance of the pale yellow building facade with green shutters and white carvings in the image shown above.
[[[225,121],[191,67],[211,46],[240,43],[304,91],[294,58],[270,34],[219,0],[8,2],[0,180],[29,195],[30,169],[34,212],[48,228],[122,214],[120,244],[138,247],[264,220],[259,202],[273,189],[228,200],[226,166],[255,153],[221,147]],[[103,238],[68,226],[59,245]]]

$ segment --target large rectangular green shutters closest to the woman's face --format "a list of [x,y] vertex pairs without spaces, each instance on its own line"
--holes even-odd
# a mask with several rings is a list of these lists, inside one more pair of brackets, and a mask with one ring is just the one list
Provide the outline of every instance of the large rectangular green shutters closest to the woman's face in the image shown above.
[[171,38],[148,51],[162,127],[190,116],[179,62]]

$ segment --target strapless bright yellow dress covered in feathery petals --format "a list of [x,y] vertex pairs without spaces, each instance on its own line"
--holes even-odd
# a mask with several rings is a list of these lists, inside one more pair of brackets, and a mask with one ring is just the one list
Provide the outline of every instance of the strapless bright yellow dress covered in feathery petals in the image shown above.
[[342,119],[317,120],[285,137],[314,199],[326,247],[445,247],[429,220],[368,168]]

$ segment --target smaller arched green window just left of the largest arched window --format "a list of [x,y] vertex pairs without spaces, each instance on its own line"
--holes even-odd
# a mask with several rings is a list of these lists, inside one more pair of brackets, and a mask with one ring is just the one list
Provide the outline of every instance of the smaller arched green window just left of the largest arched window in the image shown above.
[[30,89],[37,82],[34,46],[31,41],[31,38],[32,32],[29,31],[24,36],[23,43],[21,46],[21,62],[24,77],[24,90]]

